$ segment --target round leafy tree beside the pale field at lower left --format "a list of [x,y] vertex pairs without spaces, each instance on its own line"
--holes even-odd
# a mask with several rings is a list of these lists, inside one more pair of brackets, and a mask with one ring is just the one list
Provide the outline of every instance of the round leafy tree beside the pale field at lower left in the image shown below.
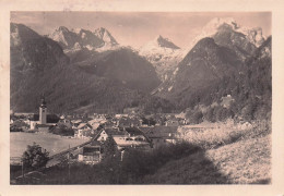
[[27,145],[27,149],[22,156],[22,161],[27,169],[38,169],[46,166],[49,160],[48,156],[49,152],[46,149],[34,143],[32,146]]

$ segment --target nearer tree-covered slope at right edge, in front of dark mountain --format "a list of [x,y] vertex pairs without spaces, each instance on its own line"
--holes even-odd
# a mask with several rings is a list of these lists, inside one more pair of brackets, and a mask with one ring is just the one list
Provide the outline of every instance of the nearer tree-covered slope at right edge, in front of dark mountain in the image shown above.
[[198,89],[186,89],[176,95],[175,101],[187,109],[187,117],[211,122],[227,118],[271,121],[272,61],[269,37],[240,66]]

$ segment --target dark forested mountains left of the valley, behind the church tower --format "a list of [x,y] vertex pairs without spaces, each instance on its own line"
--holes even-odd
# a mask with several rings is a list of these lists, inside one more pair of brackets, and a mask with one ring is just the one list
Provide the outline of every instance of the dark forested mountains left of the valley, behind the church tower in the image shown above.
[[121,112],[126,107],[146,108],[152,100],[161,110],[169,105],[147,96],[159,81],[151,63],[127,48],[105,52],[84,49],[70,58],[59,42],[12,23],[10,50],[14,111],[36,111],[42,95],[49,110],[57,113]]

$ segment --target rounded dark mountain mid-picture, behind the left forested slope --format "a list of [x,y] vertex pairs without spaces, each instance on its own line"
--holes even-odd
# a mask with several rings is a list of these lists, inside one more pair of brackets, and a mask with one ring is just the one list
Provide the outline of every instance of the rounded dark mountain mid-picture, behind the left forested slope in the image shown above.
[[153,65],[129,48],[105,52],[80,51],[71,62],[86,73],[117,81],[131,89],[151,91],[159,85]]

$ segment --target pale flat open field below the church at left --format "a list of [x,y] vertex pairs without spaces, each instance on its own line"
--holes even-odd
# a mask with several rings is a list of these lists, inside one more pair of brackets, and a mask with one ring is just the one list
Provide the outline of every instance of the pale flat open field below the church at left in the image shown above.
[[40,134],[40,133],[24,133],[14,132],[10,133],[10,157],[21,157],[26,149],[27,145],[33,145],[36,143],[49,151],[49,155],[55,155],[64,149],[82,143],[86,139],[81,138],[68,138],[54,134]]

